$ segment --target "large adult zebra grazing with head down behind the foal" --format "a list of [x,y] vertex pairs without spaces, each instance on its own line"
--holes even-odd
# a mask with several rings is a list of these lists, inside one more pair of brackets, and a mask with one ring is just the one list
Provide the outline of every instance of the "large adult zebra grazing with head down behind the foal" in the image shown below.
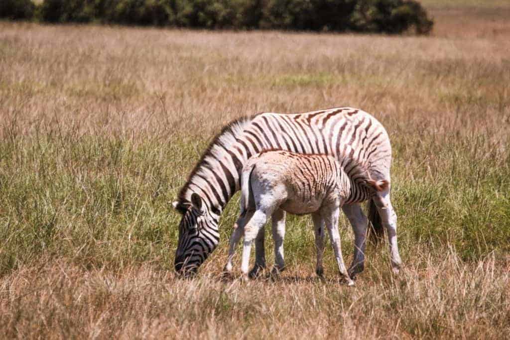
[[[240,189],[242,168],[251,155],[265,149],[334,156],[349,175],[351,195],[342,207],[354,231],[354,256],[349,275],[364,269],[368,220],[360,202],[366,190],[358,185],[369,173],[374,180],[390,180],[391,145],[385,128],[370,114],[353,108],[333,108],[298,114],[261,113],[226,125],[214,138],[188,177],[173,206],[183,214],[175,254],[178,273],[196,272],[219,243],[218,221],[227,202]],[[321,171],[321,169],[313,169]],[[278,215],[279,214],[279,215]],[[271,216],[273,233],[281,233],[285,216]],[[379,235],[388,231],[391,263],[398,272],[401,260],[396,214],[390,186],[369,202],[369,217]],[[264,230],[256,238],[256,265],[265,266]]]

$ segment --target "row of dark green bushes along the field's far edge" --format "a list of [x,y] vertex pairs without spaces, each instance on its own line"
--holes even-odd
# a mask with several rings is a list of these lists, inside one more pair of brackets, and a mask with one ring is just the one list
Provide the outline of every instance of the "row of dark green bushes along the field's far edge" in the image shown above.
[[[0,0],[0,17],[30,18],[30,0]],[[45,22],[100,22],[206,29],[279,29],[427,34],[414,0],[44,0]]]

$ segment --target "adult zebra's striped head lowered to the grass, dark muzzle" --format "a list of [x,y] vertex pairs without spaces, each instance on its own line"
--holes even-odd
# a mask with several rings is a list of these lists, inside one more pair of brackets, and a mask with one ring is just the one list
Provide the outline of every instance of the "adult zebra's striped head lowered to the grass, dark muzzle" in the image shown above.
[[183,215],[179,224],[175,271],[190,276],[218,245],[219,217],[209,211],[196,193],[191,195],[191,202],[176,201],[173,207]]

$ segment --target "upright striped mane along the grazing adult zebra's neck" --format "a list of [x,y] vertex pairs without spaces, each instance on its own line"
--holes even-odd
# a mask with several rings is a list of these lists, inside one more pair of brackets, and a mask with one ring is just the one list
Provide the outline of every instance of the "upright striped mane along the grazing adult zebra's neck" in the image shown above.
[[177,200],[179,202],[186,203],[190,201],[189,196],[191,194],[188,194],[188,191],[193,177],[200,172],[203,165],[209,163],[209,160],[218,159],[219,153],[224,152],[225,148],[233,145],[237,141],[239,135],[244,131],[246,126],[251,123],[251,120],[255,116],[256,115],[237,118],[223,126],[221,132],[213,138],[207,149],[202,153],[200,160],[190,172],[188,179],[186,180],[186,184],[181,188],[177,195]]

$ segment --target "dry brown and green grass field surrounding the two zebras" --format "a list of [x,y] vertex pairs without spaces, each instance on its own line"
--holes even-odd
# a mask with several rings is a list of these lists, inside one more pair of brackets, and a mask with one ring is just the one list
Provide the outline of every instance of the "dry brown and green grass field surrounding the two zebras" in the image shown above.
[[[510,6],[424,4],[429,37],[0,22],[0,337],[510,336]],[[385,245],[316,279],[292,217],[281,279],[222,282],[235,196],[176,279],[168,202],[221,126],[336,106],[390,134],[401,274]]]

